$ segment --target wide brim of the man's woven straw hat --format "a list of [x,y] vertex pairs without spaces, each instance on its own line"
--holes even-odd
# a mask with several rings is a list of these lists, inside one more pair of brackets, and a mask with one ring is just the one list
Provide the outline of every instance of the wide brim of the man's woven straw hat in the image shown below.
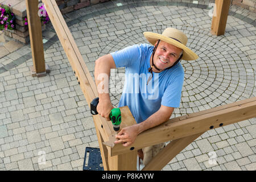
[[148,40],[148,42],[150,42],[154,46],[155,46],[155,43],[158,40],[162,40],[163,42],[166,42],[168,44],[172,44],[176,47],[179,47],[179,48],[183,49],[183,56],[181,57],[181,59],[183,59],[183,60],[189,61],[189,60],[196,60],[198,58],[198,56],[195,52],[191,51],[191,49],[189,49],[187,46],[178,42],[175,39],[168,38],[167,36],[157,34],[157,33],[154,33],[154,32],[143,32],[143,35]]

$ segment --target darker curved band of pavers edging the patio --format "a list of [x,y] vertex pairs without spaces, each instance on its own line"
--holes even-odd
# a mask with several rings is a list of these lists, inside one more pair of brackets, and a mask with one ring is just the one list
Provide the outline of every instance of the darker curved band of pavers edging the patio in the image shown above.
[[[109,1],[110,2],[110,1]],[[109,3],[109,2],[105,2],[105,3]],[[113,4],[115,5],[115,4]],[[97,6],[97,5],[93,5],[93,6]],[[189,2],[168,2],[168,1],[160,1],[160,2],[155,2],[155,1],[147,1],[147,2],[131,2],[131,4],[126,4],[126,5],[122,5],[122,6],[117,6],[116,7],[110,7],[108,9],[107,6],[106,9],[104,10],[97,10],[93,11],[92,13],[80,16],[76,19],[72,19],[69,20],[67,22],[68,27],[73,26],[74,24],[80,23],[86,19],[90,19],[93,18],[94,16],[99,16],[99,15],[103,15],[103,14],[108,14],[108,13],[113,13],[115,11],[118,10],[123,10],[123,9],[129,9],[131,7],[142,7],[142,6],[185,6],[185,7],[197,7],[200,9],[207,9],[210,10],[212,7],[209,7],[208,5],[202,5],[199,3],[189,3]],[[76,14],[77,15],[77,14]],[[250,18],[247,18],[246,16],[242,15],[242,14],[238,14],[235,13],[233,11],[229,10],[229,15],[234,16],[240,20],[245,21],[246,23],[251,24],[252,26],[256,27],[256,21]],[[68,16],[68,15],[67,15]],[[52,25],[50,25],[52,27]],[[55,30],[53,28],[52,29],[54,32]],[[51,39],[49,39],[46,43],[43,44],[44,46],[44,51],[46,51],[50,46],[52,46],[57,40],[59,40],[59,38],[57,37],[57,35],[54,35]],[[26,55],[23,55],[21,57],[19,57],[18,59],[14,60],[13,62],[5,65],[4,67],[0,68],[0,74],[4,73],[6,71],[9,71],[10,69],[15,68],[16,66],[26,62],[27,60],[32,59],[32,55],[31,52],[27,53]]]

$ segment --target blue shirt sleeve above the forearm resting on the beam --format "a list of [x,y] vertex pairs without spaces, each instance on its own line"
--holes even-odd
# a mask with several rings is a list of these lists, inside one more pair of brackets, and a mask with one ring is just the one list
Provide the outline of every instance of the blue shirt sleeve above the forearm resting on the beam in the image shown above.
[[184,72],[177,75],[164,90],[161,105],[168,107],[179,107],[181,91],[184,81]]

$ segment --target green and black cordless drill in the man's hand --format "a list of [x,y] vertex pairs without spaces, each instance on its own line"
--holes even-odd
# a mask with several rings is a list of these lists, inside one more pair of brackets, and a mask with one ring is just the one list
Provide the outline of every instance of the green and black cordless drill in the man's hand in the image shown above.
[[[98,114],[97,112],[98,105],[98,97],[94,98],[92,102],[90,102],[90,113],[93,115]],[[119,108],[114,108],[110,111],[109,118],[112,121],[113,129],[118,131],[120,129],[121,124],[121,110]]]

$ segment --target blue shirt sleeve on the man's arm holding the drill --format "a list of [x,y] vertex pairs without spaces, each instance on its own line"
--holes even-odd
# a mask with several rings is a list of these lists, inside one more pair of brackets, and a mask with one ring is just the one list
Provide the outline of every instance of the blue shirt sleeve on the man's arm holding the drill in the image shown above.
[[141,49],[138,45],[133,45],[110,53],[113,56],[115,67],[129,67],[134,60],[141,56]]

